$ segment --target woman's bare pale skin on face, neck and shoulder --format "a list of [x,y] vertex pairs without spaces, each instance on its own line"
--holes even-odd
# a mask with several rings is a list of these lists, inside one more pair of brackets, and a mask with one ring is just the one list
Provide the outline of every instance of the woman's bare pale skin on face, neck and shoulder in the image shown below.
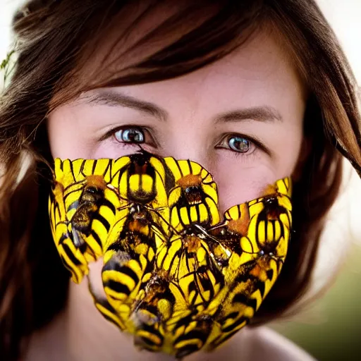
[[[102,104],[100,98],[106,94],[123,105]],[[124,106],[130,98],[147,103],[148,109],[152,104],[160,114]],[[59,107],[49,116],[51,152],[62,159],[118,158],[138,148],[122,142],[119,131],[109,135],[110,130],[144,130],[142,146],[149,152],[197,161],[214,175],[224,211],[255,199],[280,178],[298,177],[307,154],[302,134],[305,100],[305,87],[278,39],[260,32],[233,54],[194,73],[147,85],[93,90]],[[100,140],[106,134],[109,137]],[[234,137],[243,142],[239,151],[232,149]],[[94,264],[90,275],[97,288],[100,267]],[[50,353],[51,360],[171,360],[133,348],[128,336],[95,309],[86,281],[71,284],[70,292],[65,312],[32,338],[27,360],[48,360]],[[212,355],[196,353],[186,360],[221,357],[311,360],[263,327],[245,328]]]

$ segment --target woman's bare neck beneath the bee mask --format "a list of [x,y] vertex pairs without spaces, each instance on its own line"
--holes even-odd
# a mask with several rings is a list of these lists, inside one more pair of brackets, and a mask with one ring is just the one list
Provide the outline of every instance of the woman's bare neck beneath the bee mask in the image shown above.
[[[185,361],[247,360],[247,345],[252,331],[243,329],[214,353],[195,353]],[[242,347],[240,347],[242,343]],[[242,354],[242,355],[241,355]],[[119,331],[95,308],[87,280],[80,285],[71,282],[66,310],[46,329],[38,332],[30,343],[26,361],[40,360],[142,360],[173,361],[174,357],[138,350],[132,336]]]

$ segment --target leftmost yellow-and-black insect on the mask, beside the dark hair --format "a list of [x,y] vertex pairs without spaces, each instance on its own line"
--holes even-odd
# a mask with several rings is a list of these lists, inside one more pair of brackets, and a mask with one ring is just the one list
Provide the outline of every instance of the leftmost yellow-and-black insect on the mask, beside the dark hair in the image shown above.
[[103,254],[120,201],[110,180],[109,159],[55,160],[49,216],[56,247],[75,283],[88,273],[87,263]]

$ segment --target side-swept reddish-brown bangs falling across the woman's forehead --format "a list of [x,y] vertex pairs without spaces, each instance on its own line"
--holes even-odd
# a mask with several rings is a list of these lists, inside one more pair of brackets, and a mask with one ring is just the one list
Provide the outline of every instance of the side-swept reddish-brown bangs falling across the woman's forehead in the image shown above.
[[121,9],[114,6],[98,19],[96,34],[84,42],[73,70],[56,87],[58,100],[99,87],[185,75],[240,47],[261,29],[265,18],[261,1],[252,6],[243,1],[135,1]]

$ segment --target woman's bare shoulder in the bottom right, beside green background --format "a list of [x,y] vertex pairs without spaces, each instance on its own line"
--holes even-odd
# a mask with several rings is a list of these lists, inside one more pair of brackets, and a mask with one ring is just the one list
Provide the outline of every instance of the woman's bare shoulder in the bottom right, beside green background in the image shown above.
[[253,347],[250,349],[250,360],[268,361],[314,361],[314,357],[295,345],[288,338],[277,334],[268,327],[258,327],[250,331]]

